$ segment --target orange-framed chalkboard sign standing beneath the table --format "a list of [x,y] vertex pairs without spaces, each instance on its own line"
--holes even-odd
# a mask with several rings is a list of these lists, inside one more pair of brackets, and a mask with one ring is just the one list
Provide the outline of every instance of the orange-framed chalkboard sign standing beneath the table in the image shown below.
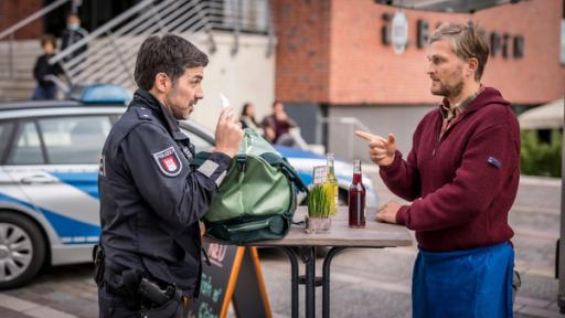
[[204,248],[211,264],[202,264],[200,296],[189,317],[226,317],[230,303],[237,317],[273,317],[257,250],[215,242],[206,242]]

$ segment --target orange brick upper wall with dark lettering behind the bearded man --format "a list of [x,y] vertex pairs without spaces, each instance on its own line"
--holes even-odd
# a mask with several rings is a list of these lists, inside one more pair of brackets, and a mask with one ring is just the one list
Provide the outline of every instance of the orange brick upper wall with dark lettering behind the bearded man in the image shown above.
[[397,55],[381,42],[382,14],[395,8],[372,0],[277,0],[276,96],[333,105],[437,103],[429,93],[426,50],[415,45],[416,21],[427,20],[431,33],[440,21],[472,19],[488,33],[523,35],[525,43],[522,59],[489,57],[482,82],[516,104],[553,100],[565,87],[562,3],[531,0],[473,15],[407,10],[409,45]]

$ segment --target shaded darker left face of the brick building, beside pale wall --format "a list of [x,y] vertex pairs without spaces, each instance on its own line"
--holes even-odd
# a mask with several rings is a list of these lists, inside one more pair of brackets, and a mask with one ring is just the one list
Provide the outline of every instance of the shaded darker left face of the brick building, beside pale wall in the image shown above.
[[275,0],[276,96],[328,102],[331,1]]

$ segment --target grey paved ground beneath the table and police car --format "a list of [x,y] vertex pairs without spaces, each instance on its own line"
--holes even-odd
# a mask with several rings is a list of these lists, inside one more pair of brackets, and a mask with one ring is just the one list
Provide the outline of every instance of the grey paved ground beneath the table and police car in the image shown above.
[[[380,182],[377,190],[383,202],[393,198]],[[553,277],[555,242],[559,234],[559,181],[522,180],[510,218],[515,230],[516,267],[523,284],[514,307],[515,317],[565,317],[558,314],[557,280]],[[411,317],[415,254],[413,246],[350,250],[338,255],[332,264],[332,317]],[[260,256],[275,317],[288,317],[290,268],[286,258],[274,250],[264,250]],[[30,286],[0,293],[0,316],[97,317],[92,271],[90,264],[46,269]],[[321,290],[317,293],[317,298],[321,299]],[[300,304],[302,309],[303,304]],[[317,316],[320,314],[319,306]]]

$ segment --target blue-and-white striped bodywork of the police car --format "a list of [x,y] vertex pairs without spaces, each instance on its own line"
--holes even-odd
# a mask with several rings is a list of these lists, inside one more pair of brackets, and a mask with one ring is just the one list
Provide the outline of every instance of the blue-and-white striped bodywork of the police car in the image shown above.
[[[312,181],[312,167],[326,165],[324,156],[286,147],[277,149],[288,158],[306,184]],[[0,169],[0,208],[24,210],[38,220],[43,220],[42,223],[49,226],[47,232],[53,233],[50,237],[55,237],[52,244],[98,242],[100,226],[97,166],[4,166],[3,169],[4,171]],[[335,172],[340,188],[348,189],[353,172],[351,165],[338,160]],[[21,180],[30,176],[41,177],[44,183],[21,183]],[[364,181],[367,192],[371,193],[369,178]],[[367,195],[367,204],[370,201],[371,197]]]

